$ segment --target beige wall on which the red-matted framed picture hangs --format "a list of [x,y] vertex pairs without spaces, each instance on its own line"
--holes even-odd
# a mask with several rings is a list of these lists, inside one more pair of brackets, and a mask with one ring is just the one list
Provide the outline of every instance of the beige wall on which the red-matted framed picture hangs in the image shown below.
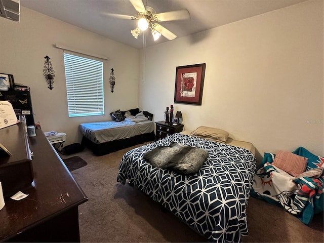
[[[145,50],[140,107],[163,120],[176,67],[206,63],[201,106],[174,104],[186,130],[221,128],[264,152],[323,155],[323,1],[309,1]],[[143,77],[143,71],[145,73]]]

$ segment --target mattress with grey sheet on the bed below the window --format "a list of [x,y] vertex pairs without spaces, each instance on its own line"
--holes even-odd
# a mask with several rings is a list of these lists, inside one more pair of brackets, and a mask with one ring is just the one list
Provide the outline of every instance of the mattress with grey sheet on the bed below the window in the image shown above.
[[80,124],[79,130],[91,142],[100,144],[151,133],[154,131],[154,123],[151,120],[140,121],[138,123],[129,120],[119,122],[114,120],[98,121]]

